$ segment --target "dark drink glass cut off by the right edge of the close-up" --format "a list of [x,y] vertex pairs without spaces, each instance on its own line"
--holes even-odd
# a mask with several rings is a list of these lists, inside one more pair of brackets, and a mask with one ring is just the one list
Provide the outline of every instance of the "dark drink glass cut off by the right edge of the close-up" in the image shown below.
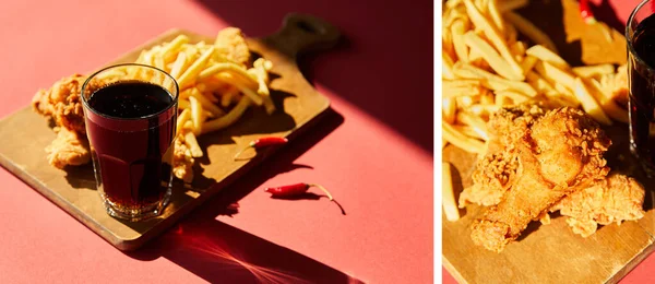
[[651,0],[642,1],[626,26],[630,151],[648,175],[655,173],[655,16]]

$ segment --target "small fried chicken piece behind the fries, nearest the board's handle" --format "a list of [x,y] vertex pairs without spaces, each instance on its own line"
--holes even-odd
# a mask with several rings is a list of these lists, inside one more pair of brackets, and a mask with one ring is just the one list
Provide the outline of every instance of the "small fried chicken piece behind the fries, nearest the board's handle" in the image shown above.
[[248,66],[250,62],[250,49],[246,44],[246,38],[241,29],[237,27],[226,27],[218,32],[216,36],[216,51],[230,61],[241,66]]

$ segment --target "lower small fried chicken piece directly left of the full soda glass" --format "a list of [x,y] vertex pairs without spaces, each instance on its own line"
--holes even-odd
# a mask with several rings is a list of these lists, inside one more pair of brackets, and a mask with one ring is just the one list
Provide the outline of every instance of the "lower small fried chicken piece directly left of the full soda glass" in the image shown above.
[[[57,138],[46,147],[48,163],[57,168],[79,166],[91,161],[86,137],[68,128],[58,128]],[[82,134],[83,135],[83,134]]]

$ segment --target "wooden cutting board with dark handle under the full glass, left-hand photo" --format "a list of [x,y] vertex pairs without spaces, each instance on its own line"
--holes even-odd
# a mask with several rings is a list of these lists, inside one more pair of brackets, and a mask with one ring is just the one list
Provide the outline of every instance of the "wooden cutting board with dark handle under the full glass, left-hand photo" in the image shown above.
[[[192,43],[214,43],[215,39],[214,36],[172,29],[108,64],[133,62],[142,49],[169,42],[180,34],[188,35]],[[275,34],[248,39],[257,56],[273,62],[271,96],[278,110],[270,116],[263,108],[250,108],[236,125],[200,137],[205,157],[196,158],[193,184],[184,187],[176,181],[171,201],[159,217],[132,223],[107,215],[95,189],[91,165],[60,170],[48,164],[44,149],[55,139],[55,133],[31,107],[0,120],[0,137],[4,138],[0,143],[0,164],[118,249],[136,249],[274,151],[260,151],[255,159],[234,162],[238,149],[264,135],[293,139],[330,108],[327,98],[305,80],[296,58],[301,52],[332,47],[338,37],[338,31],[320,19],[289,14]]]

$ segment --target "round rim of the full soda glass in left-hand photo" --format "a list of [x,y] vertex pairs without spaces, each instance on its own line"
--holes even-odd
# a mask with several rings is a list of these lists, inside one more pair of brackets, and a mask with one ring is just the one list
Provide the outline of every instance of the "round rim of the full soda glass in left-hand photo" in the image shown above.
[[[141,116],[141,117],[131,117],[131,118],[115,117],[115,116],[105,115],[103,113],[97,111],[96,109],[94,109],[92,106],[88,105],[88,102],[87,102],[86,97],[84,96],[84,90],[86,88],[86,84],[93,78],[95,78],[97,74],[99,74],[99,73],[102,73],[104,71],[107,71],[109,69],[119,68],[119,67],[130,67],[130,66],[132,66],[132,67],[142,67],[142,68],[150,68],[150,69],[153,69],[155,71],[162,72],[165,76],[167,76],[168,79],[170,79],[171,82],[172,82],[172,84],[174,84],[174,86],[175,86],[175,95],[172,95],[172,102],[166,108],[164,108],[160,111],[157,111],[155,114],[151,114],[151,115],[146,115],[146,116]],[[119,80],[119,81],[121,81],[121,80]],[[146,82],[146,81],[142,81],[142,80],[134,80],[134,81]],[[160,84],[156,84],[156,85],[160,86]],[[105,86],[107,86],[107,85],[105,85]],[[103,88],[105,86],[102,86],[100,88]],[[165,88],[165,87],[163,87],[163,88]],[[166,92],[169,93],[168,90],[166,90]],[[168,74],[168,72],[166,72],[166,71],[164,71],[162,69],[158,69],[156,67],[141,64],[141,63],[120,63],[120,64],[112,64],[112,66],[105,67],[105,68],[103,68],[103,69],[94,72],[93,74],[88,75],[88,78],[86,80],[84,80],[84,84],[82,84],[80,96],[82,98],[82,104],[84,105],[84,108],[93,111],[95,115],[98,115],[98,116],[100,116],[103,118],[115,119],[115,120],[143,120],[143,119],[150,119],[150,118],[153,118],[153,117],[157,117],[157,116],[159,116],[159,115],[168,111],[171,107],[174,107],[177,104],[178,97],[179,97],[179,93],[180,93],[180,90],[179,90],[179,85],[178,85],[177,81],[175,80],[175,78],[172,78],[170,74]]]

